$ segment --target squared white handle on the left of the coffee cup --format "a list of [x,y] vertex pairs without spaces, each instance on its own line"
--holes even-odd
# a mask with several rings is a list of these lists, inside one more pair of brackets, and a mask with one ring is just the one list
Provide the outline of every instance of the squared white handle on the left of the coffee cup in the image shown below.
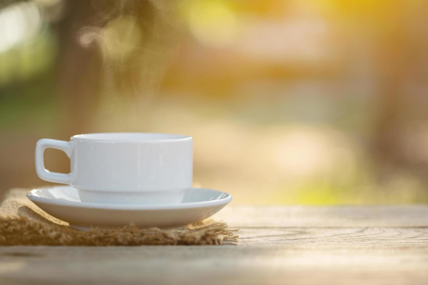
[[50,138],[42,138],[36,144],[36,173],[43,180],[70,184],[71,173],[58,173],[51,172],[45,168],[45,162],[43,160],[43,153],[47,148],[55,148],[62,150],[70,158],[72,152],[72,145],[70,141],[59,141]]

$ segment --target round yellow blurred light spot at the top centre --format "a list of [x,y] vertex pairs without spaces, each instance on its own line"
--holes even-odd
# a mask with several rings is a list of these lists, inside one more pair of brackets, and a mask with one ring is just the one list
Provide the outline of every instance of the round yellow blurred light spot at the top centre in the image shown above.
[[225,46],[236,37],[236,17],[222,3],[194,2],[188,21],[190,31],[203,44]]

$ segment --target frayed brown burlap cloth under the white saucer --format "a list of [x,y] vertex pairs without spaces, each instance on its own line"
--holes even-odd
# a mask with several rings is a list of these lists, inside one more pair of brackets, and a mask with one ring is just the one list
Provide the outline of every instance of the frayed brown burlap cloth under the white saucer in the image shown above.
[[12,189],[0,206],[0,245],[165,245],[223,244],[238,236],[226,223],[205,220],[187,229],[140,229],[130,224],[120,229],[81,232],[58,220],[27,199],[28,189]]

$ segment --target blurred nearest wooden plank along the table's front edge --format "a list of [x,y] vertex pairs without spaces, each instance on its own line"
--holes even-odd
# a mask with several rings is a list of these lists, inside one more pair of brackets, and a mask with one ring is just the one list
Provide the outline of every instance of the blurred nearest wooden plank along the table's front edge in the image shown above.
[[1,284],[426,284],[427,247],[1,247]]

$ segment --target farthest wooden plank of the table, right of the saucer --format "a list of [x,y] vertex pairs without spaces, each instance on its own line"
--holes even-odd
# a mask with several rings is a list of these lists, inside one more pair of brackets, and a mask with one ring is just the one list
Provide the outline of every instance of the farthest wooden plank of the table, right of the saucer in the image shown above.
[[226,206],[214,215],[236,227],[428,226],[428,205]]

